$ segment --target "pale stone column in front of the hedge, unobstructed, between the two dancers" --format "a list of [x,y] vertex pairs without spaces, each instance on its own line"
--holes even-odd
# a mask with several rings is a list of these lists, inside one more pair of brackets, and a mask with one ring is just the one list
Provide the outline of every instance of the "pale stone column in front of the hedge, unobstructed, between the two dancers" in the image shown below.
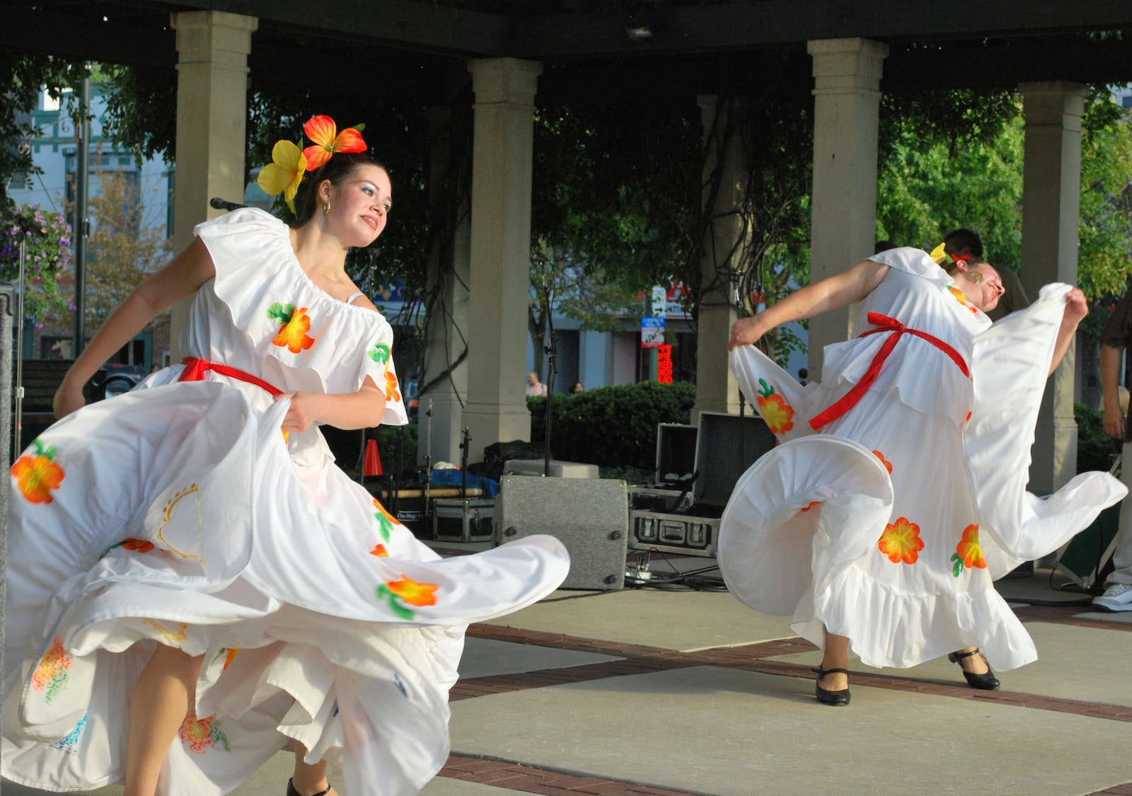
[[468,403],[469,461],[496,442],[530,439],[526,410],[526,302],[531,260],[534,91],[542,65],[473,60],[475,121]]

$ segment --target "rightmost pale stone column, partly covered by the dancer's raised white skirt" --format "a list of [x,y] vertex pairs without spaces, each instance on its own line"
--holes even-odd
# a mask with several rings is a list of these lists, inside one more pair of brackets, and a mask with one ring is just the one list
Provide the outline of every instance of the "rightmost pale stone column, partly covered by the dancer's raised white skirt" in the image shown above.
[[[1077,284],[1081,223],[1080,83],[1024,83],[1026,151],[1022,171],[1022,284],[1037,297],[1049,282]],[[1046,385],[1035,431],[1030,491],[1044,494],[1077,473],[1073,420],[1075,345]]]

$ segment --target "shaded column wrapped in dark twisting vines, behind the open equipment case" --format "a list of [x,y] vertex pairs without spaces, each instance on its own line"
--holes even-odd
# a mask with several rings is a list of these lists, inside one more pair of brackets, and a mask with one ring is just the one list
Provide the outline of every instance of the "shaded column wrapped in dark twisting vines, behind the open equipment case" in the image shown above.
[[[732,285],[719,273],[731,265],[730,255],[743,250],[744,224],[737,209],[743,205],[747,186],[747,155],[741,146],[735,105],[717,95],[697,99],[703,125],[703,212],[710,223],[704,233],[700,274],[704,285],[715,285],[700,296],[696,318],[696,403],[689,421],[695,425],[702,412],[739,413],[739,387],[727,366],[727,340],[737,316],[731,302]],[[727,130],[731,132],[726,132]],[[719,171],[719,183],[712,176]],[[710,204],[709,203],[712,203]]]

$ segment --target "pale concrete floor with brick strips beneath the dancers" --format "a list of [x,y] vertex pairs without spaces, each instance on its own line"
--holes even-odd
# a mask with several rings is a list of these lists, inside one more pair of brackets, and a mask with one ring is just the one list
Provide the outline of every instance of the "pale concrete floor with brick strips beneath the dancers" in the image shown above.
[[[818,653],[788,617],[720,591],[556,592],[470,628],[452,758],[422,793],[1132,796],[1132,613],[1094,611],[1040,570],[1000,591],[1039,654],[1001,691],[945,659],[855,662],[840,709],[814,700]],[[283,796],[291,761],[234,793]]]

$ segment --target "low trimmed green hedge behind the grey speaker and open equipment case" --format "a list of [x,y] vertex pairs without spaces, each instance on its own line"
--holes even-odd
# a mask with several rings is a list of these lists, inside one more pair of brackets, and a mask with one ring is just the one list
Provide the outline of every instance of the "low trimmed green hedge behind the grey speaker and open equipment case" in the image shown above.
[[[657,462],[657,425],[686,423],[696,401],[694,384],[641,382],[550,396],[555,459],[602,468],[651,471]],[[531,439],[546,438],[547,399],[530,397]]]

